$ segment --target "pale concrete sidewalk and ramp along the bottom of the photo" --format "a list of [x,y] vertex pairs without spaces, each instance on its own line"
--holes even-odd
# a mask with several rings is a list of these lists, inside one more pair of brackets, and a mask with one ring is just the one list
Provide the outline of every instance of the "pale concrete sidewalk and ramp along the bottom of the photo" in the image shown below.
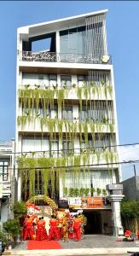
[[139,252],[139,241],[116,241],[114,236],[87,235],[82,241],[60,241],[63,249],[27,250],[27,241],[21,243],[4,255],[68,256],[68,255],[129,255],[127,251]]

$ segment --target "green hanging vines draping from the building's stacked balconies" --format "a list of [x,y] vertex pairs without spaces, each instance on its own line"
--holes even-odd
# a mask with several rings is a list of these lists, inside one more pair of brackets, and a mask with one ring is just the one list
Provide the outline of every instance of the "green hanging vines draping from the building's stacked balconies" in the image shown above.
[[[89,147],[89,134],[91,134],[92,140],[95,142],[97,133],[101,142],[101,135],[106,132],[105,129],[107,129],[107,132],[114,132],[114,125],[106,122],[106,120],[104,121],[104,119],[101,121],[93,120],[92,123],[90,123],[89,120],[86,120],[84,123],[77,122],[76,120],[70,123],[64,119],[49,119],[48,109],[54,108],[55,102],[58,105],[58,109],[61,110],[64,108],[65,100],[68,98],[69,91],[70,89],[67,88],[40,89],[39,86],[36,86],[35,89],[29,89],[28,86],[26,86],[24,89],[20,89],[20,106],[22,110],[25,109],[25,114],[18,116],[17,119],[17,123],[20,125],[21,130],[23,131],[27,124],[36,125],[36,122],[38,122],[40,124],[42,134],[48,130],[49,137],[51,139],[53,139],[56,132],[58,132],[62,142],[63,132],[65,132],[67,141],[69,140],[70,143],[73,143],[75,138],[79,136],[80,145],[84,139],[86,148]],[[86,104],[86,108],[88,104],[92,104],[92,101],[94,102],[94,108],[96,108],[95,99],[97,98],[97,100],[100,100],[102,95],[105,95],[106,99],[108,96],[112,96],[113,88],[112,86],[96,86],[95,84],[91,84],[90,87],[87,87],[87,85],[84,84],[84,87],[74,88],[74,92],[78,96],[79,108],[82,110],[83,101]],[[41,116],[39,113],[39,108],[43,108],[43,116]],[[99,108],[101,109],[101,106],[99,106]],[[90,168],[85,166],[90,164],[90,156],[92,163],[95,160],[97,163],[99,163],[101,157],[103,156],[108,165],[110,165],[113,160],[117,159],[117,154],[113,152],[100,153],[95,152],[93,148],[92,150],[86,150],[84,153],[82,152],[81,154],[70,155],[67,157],[46,158],[44,155],[44,157],[38,159],[30,159],[25,157],[19,158],[19,173],[22,177],[22,184],[24,183],[25,191],[27,189],[27,184],[29,184],[29,195],[35,195],[36,179],[38,181],[37,189],[41,190],[41,177],[43,193],[48,195],[50,182],[51,195],[54,198],[55,189],[59,189],[60,177],[63,185],[65,185],[65,177],[68,166],[73,166],[71,169],[72,183],[74,183],[77,178],[79,183],[79,172],[81,168],[78,166],[84,166],[82,168],[84,173],[90,172]],[[28,168],[28,170],[26,168]]]

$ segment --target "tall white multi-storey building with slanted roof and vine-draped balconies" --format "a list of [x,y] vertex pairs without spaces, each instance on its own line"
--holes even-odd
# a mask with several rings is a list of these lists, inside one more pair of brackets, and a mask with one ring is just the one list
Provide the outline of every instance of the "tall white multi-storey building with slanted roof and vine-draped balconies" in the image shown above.
[[[45,194],[56,201],[94,190],[102,195],[107,184],[121,180],[106,14],[102,10],[18,29],[19,200]],[[86,216],[101,223],[89,232],[102,233],[107,225],[118,234],[121,199],[111,198],[104,209],[86,209]]]

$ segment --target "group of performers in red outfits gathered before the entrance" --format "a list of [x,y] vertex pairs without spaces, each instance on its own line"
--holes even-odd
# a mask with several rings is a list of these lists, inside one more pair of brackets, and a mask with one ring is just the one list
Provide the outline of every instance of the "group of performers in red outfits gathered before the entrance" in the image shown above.
[[23,223],[23,240],[62,240],[80,241],[84,235],[85,217],[83,214],[62,216],[52,215],[49,220],[49,232],[45,227],[45,220],[36,215],[26,216]]

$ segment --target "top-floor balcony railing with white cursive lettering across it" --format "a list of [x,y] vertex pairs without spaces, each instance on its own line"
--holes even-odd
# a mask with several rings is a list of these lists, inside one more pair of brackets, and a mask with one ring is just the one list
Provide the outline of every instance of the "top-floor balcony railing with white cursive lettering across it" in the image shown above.
[[20,61],[67,62],[86,64],[111,64],[111,55],[81,55],[72,53],[22,51]]

